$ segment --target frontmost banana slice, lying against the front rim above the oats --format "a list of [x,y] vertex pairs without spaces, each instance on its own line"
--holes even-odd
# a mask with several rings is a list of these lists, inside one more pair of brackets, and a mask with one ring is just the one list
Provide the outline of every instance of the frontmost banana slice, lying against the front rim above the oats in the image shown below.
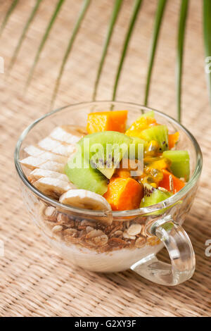
[[[105,211],[106,216],[103,218],[96,218],[96,220],[111,224],[113,220],[110,204],[103,196],[96,194],[86,189],[70,189],[60,196],[61,204],[69,204],[70,206],[89,209],[92,211]],[[94,218],[93,218],[94,219]]]

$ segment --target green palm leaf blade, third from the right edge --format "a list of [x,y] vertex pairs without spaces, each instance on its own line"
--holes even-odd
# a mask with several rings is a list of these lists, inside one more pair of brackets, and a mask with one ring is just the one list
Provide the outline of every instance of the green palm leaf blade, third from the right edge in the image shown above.
[[148,72],[147,72],[147,77],[146,77],[146,88],[145,88],[145,98],[144,98],[145,106],[147,106],[147,104],[148,104],[148,94],[149,94],[149,89],[150,89],[150,84],[151,84],[151,75],[152,75],[152,71],[153,71],[155,51],[156,51],[156,46],[158,44],[158,37],[159,37],[160,27],[161,27],[161,23],[162,23],[162,16],[163,16],[166,4],[167,4],[167,0],[159,0],[158,8],[155,13],[155,24],[153,27],[153,37],[152,37],[152,41],[151,41]]

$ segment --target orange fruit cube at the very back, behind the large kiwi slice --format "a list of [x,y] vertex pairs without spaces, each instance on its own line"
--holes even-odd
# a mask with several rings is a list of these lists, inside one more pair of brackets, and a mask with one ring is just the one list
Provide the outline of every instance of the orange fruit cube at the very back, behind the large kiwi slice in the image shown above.
[[124,133],[127,122],[127,111],[101,111],[89,113],[87,132],[117,131]]

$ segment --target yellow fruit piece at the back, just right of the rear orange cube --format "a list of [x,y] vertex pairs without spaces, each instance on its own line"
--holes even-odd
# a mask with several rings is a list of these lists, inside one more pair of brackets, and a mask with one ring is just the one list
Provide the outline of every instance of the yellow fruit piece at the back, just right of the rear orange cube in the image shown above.
[[130,137],[139,137],[141,138],[141,131],[152,127],[153,125],[158,125],[155,118],[151,117],[141,117],[134,122],[131,127],[125,132],[125,135]]

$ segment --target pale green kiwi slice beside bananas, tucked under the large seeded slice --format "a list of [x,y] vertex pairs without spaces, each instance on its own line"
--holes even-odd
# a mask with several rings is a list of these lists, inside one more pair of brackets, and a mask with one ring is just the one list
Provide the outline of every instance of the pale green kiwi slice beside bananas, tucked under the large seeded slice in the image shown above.
[[[77,158],[81,163],[77,164]],[[98,170],[91,168],[81,154],[77,153],[65,165],[65,174],[70,182],[79,189],[89,189],[91,192],[105,194],[108,189],[108,180]]]

